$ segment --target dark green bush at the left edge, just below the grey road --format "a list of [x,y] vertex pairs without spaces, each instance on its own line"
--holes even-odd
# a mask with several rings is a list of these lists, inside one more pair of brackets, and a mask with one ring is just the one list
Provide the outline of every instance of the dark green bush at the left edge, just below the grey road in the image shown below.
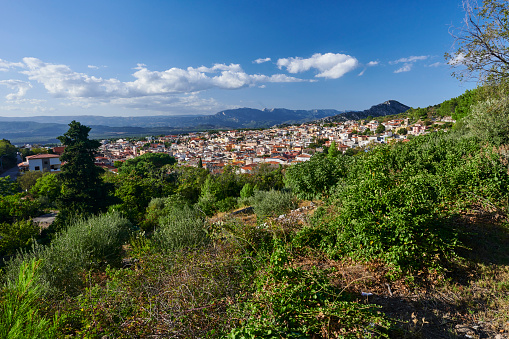
[[13,255],[30,247],[38,235],[39,227],[32,220],[0,223],[0,255]]

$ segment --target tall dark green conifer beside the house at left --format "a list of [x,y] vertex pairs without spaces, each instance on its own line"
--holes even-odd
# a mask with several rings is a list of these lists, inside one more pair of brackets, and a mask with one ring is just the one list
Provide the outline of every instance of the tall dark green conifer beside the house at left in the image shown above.
[[61,218],[72,215],[90,215],[105,211],[110,186],[101,179],[103,170],[94,164],[100,143],[90,140],[90,127],[73,120],[69,130],[57,139],[66,146],[60,156],[62,195],[57,201]]

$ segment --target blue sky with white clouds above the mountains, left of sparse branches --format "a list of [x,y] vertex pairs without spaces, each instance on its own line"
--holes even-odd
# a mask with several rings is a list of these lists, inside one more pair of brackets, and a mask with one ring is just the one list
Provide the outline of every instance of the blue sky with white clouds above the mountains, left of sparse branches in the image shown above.
[[475,86],[444,53],[461,0],[3,1],[0,116],[363,110]]

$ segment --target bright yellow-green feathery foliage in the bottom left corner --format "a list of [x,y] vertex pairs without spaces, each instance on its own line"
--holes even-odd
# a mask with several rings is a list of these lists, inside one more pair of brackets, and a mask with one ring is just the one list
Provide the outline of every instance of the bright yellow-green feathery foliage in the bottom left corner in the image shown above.
[[38,283],[41,261],[22,263],[15,280],[7,281],[1,294],[0,338],[56,338],[62,318],[44,318],[39,310],[43,288]]

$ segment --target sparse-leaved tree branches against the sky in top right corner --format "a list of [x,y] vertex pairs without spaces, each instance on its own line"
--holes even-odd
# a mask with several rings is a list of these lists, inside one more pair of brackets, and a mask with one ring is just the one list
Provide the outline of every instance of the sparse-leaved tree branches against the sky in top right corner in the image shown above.
[[464,0],[464,25],[453,28],[449,64],[459,68],[453,73],[461,80],[477,78],[498,83],[509,78],[509,2],[507,0]]

